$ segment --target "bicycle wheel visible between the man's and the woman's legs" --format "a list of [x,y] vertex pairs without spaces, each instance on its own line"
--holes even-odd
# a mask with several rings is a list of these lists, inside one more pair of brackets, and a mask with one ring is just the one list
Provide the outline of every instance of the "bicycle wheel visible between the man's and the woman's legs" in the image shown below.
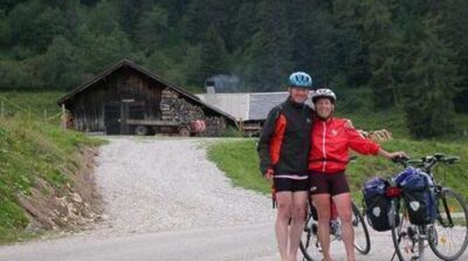
[[311,211],[309,211],[309,216],[307,216],[304,225],[299,248],[306,260],[315,261],[322,260],[323,258],[319,245],[319,237],[317,237],[317,221],[314,220]]

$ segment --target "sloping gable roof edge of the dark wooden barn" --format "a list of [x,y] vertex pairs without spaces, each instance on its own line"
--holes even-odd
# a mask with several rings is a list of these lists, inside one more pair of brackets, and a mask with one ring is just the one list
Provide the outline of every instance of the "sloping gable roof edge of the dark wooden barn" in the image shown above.
[[82,91],[85,91],[85,89],[92,88],[96,82],[99,82],[100,80],[103,80],[106,76],[110,75],[111,73],[115,72],[119,68],[122,68],[124,66],[128,66],[130,68],[133,68],[134,70],[137,70],[138,72],[142,73],[143,75],[147,75],[148,77],[152,78],[153,80],[156,80],[157,82],[161,82],[162,84],[166,85],[167,87],[170,87],[171,89],[174,89],[177,91],[179,94],[182,94],[183,96],[189,98],[190,100],[193,100],[196,103],[199,103],[203,105],[204,107],[207,107],[208,109],[217,112],[224,117],[231,119],[235,126],[237,126],[237,121],[235,117],[233,117],[231,114],[228,114],[227,112],[224,112],[223,110],[220,110],[217,107],[214,107],[213,105],[210,105],[208,103],[203,102],[203,100],[200,100],[197,96],[189,93],[188,91],[185,91],[181,87],[177,86],[176,84],[173,84],[171,82],[168,82],[168,80],[163,79],[159,75],[156,75],[154,73],[151,73],[149,70],[146,68],[143,68],[142,66],[138,66],[137,64],[133,63],[133,61],[130,61],[129,59],[123,59],[122,61],[117,62],[117,64],[110,66],[109,68],[103,70],[101,73],[96,75],[95,77],[92,77],[91,80],[85,82],[84,84],[80,85],[79,87],[73,89],[70,91],[68,94],[60,98],[57,103],[59,105],[66,103],[68,100],[73,99],[75,96],[79,95],[82,93]]

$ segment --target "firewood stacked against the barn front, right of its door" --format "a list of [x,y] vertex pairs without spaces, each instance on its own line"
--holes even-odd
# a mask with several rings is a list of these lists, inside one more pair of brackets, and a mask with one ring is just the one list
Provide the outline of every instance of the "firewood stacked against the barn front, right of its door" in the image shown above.
[[163,121],[176,121],[182,124],[190,124],[197,120],[205,121],[205,130],[200,133],[202,136],[219,136],[226,130],[224,117],[205,116],[201,107],[189,103],[173,89],[163,90],[159,107]]

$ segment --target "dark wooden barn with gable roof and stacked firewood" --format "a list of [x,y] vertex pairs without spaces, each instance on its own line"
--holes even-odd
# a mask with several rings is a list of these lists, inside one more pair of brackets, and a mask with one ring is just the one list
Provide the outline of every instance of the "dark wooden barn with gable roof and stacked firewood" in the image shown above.
[[218,136],[237,128],[235,117],[209,105],[133,62],[124,59],[60,98],[69,128],[115,134],[193,134]]

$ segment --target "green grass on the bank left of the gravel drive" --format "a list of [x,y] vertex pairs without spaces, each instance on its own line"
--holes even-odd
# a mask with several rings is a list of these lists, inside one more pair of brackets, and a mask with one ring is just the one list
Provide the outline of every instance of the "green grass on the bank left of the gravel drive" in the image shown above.
[[18,195],[31,195],[38,179],[57,191],[66,182],[73,186],[67,173],[85,164],[78,149],[102,143],[24,114],[0,117],[0,243],[34,236],[25,230],[29,219],[17,200]]

